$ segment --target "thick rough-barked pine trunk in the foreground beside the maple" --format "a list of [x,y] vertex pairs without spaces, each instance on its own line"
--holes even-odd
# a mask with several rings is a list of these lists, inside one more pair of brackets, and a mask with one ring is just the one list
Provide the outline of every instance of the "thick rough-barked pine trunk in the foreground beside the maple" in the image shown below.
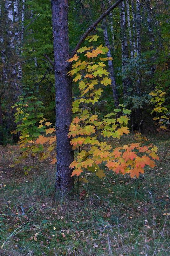
[[51,0],[56,89],[57,172],[56,192],[71,191],[74,177],[70,164],[73,150],[68,138],[71,123],[71,77],[67,75],[69,59],[68,0]]

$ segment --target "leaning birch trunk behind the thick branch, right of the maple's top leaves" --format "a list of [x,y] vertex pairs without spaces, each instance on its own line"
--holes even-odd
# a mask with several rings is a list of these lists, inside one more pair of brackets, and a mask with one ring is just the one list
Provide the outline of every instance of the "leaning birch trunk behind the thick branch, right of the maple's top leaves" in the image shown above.
[[[103,1],[101,2],[101,10],[102,10],[102,12],[104,12],[104,10],[105,10],[105,4],[104,4]],[[103,35],[104,35],[105,46],[107,46],[107,48],[109,49],[108,52],[107,52],[107,57],[112,58],[111,50],[110,50],[109,37],[108,37],[108,32],[107,32],[106,18],[104,18],[102,20],[102,23],[104,25]],[[109,66],[109,70],[108,70],[109,71],[109,76],[110,76],[110,79],[112,80],[111,87],[112,87],[114,104],[115,104],[115,106],[118,106],[119,105],[118,92],[117,92],[117,89],[116,89],[116,80],[115,80],[115,73],[114,73],[114,67],[113,67],[113,61],[112,60],[108,60],[108,66]]]

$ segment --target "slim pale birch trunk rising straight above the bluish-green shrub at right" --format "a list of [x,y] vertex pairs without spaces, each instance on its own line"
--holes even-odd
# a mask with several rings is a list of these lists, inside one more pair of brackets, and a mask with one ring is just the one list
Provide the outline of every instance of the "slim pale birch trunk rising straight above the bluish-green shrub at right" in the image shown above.
[[140,3],[136,0],[136,38],[137,38],[137,55],[141,53],[141,25],[140,25]]

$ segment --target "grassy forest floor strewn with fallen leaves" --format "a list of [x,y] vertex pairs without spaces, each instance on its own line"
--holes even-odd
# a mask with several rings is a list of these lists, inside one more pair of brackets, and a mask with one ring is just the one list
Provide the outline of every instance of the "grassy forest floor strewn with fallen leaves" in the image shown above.
[[[22,164],[12,165],[18,146],[1,147],[0,256],[170,255],[170,138],[147,137],[159,148],[157,167],[138,179],[87,173],[80,196],[57,202],[54,167],[36,163],[25,176]],[[114,144],[134,141],[126,135]]]

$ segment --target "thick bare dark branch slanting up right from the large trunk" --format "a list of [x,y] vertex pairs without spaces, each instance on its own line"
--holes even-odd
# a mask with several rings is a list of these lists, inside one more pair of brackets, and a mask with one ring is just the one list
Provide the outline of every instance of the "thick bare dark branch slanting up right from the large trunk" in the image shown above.
[[76,47],[74,48],[71,57],[73,57],[76,54],[76,51],[79,49],[80,45],[84,42],[85,38],[92,32],[93,29],[96,28],[96,26],[99,24],[99,22],[106,17],[106,15],[111,12],[118,4],[120,4],[122,0],[118,0],[116,3],[114,3],[107,11],[105,11],[99,19],[97,19],[85,32],[84,35],[82,35],[81,39],[77,43]]

